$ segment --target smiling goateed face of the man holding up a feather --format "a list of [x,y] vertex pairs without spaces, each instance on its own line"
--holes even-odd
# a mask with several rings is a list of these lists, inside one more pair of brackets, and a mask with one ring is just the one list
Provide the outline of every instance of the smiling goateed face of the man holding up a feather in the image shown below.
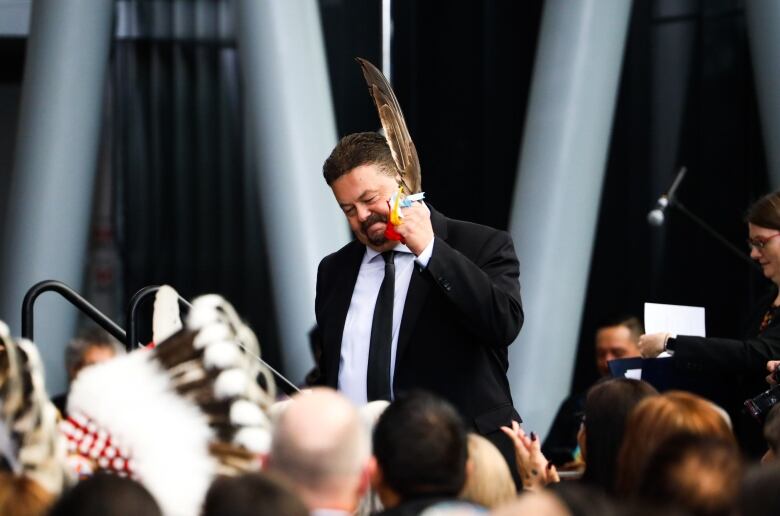
[[380,252],[392,249],[397,243],[385,238],[390,213],[387,201],[397,189],[395,179],[374,164],[356,167],[331,185],[355,237]]

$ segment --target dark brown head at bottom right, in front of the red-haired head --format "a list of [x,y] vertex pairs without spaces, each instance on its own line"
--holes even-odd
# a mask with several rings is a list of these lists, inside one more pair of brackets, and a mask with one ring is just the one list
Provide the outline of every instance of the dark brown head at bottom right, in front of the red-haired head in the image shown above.
[[733,440],[676,434],[648,459],[637,495],[648,504],[676,506],[694,516],[729,516],[742,470],[742,457]]

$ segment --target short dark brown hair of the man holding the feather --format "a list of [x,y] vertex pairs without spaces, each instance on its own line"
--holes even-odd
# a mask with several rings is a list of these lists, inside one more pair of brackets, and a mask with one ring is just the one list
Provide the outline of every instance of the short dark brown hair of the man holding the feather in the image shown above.
[[322,176],[328,186],[361,165],[378,165],[389,176],[395,176],[397,168],[387,140],[379,133],[353,133],[339,140],[322,165]]

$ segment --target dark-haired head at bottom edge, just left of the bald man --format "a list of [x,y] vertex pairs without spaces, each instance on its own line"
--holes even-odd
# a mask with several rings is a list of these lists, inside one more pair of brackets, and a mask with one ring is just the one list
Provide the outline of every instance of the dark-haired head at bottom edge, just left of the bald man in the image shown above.
[[202,516],[308,516],[309,509],[282,479],[265,473],[218,477],[203,503]]

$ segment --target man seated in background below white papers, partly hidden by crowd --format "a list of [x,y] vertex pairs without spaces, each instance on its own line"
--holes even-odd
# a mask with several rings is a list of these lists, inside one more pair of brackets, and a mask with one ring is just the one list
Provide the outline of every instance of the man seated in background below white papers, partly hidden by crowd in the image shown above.
[[[595,338],[596,370],[601,378],[609,376],[610,360],[639,356],[638,342],[642,333],[642,323],[632,315],[611,317],[601,322]],[[558,408],[542,445],[542,452],[556,466],[565,468],[572,461],[580,462],[577,432],[584,408],[585,392],[572,394]]]

